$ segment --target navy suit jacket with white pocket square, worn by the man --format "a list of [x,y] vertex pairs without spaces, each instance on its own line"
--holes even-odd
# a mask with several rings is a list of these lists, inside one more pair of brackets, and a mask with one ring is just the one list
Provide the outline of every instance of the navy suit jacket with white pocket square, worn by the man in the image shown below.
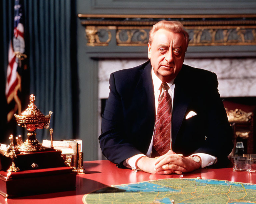
[[[155,125],[150,61],[110,75],[110,93],[99,136],[103,154],[122,167],[125,159],[146,154]],[[218,93],[215,73],[183,65],[174,80],[172,149],[189,156],[206,153],[227,162],[232,132]],[[197,113],[185,119],[188,112]]]

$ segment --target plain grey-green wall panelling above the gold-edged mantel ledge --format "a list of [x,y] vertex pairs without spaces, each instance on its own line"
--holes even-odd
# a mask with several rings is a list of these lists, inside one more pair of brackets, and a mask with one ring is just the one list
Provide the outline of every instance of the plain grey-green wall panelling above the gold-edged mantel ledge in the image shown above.
[[254,0],[87,0],[87,14],[248,14]]

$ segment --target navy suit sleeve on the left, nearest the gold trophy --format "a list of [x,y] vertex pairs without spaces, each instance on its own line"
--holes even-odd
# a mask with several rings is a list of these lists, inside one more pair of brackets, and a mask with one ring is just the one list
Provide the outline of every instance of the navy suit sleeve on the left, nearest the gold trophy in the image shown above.
[[[141,154],[129,141],[125,133],[125,120],[121,87],[117,88],[115,76],[110,75],[110,93],[102,116],[102,134],[99,136],[102,153],[113,163],[123,167],[125,159]],[[119,90],[119,91],[118,91]]]

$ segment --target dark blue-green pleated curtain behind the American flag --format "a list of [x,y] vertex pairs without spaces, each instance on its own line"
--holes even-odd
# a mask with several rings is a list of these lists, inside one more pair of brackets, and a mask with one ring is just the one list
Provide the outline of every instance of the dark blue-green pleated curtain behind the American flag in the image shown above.
[[[24,1],[29,93],[36,96],[35,104],[43,114],[53,112],[50,128],[54,130],[55,140],[72,139],[74,133],[72,102],[76,91],[72,92],[72,88],[76,88],[74,74],[77,73],[75,4],[72,0]],[[2,0],[4,54],[1,60],[5,78],[8,42],[13,35],[13,5],[14,0]],[[39,142],[50,139],[49,129],[37,130],[37,139]]]

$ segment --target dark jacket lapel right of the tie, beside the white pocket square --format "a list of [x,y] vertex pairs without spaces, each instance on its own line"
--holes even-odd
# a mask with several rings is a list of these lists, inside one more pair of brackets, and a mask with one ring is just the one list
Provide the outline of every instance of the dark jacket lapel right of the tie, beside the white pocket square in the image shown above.
[[184,84],[186,83],[186,74],[184,73],[184,66],[180,73],[176,77],[175,90],[174,90],[174,101],[173,101],[173,111],[172,111],[172,145],[175,144],[177,134],[179,132],[180,126],[184,119],[190,96],[187,88]]

